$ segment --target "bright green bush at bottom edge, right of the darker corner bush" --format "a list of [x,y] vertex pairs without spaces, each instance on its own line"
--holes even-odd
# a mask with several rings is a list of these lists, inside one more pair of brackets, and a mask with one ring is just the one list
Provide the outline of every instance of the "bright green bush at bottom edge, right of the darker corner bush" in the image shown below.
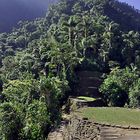
[[43,140],[50,126],[49,113],[46,103],[33,100],[26,110],[26,118],[22,129],[22,139]]

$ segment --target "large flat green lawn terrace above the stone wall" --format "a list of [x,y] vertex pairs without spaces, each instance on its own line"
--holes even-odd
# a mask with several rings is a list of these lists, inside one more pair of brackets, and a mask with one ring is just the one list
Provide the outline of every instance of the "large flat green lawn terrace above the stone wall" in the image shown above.
[[126,108],[84,108],[80,115],[98,123],[140,126],[140,110]]

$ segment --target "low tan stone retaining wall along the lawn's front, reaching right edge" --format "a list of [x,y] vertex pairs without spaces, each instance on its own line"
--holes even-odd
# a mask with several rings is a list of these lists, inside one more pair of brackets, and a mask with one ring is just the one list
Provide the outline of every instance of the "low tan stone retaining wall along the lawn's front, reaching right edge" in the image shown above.
[[87,118],[72,116],[63,130],[63,140],[104,140],[105,137],[140,139],[140,127],[100,124]]

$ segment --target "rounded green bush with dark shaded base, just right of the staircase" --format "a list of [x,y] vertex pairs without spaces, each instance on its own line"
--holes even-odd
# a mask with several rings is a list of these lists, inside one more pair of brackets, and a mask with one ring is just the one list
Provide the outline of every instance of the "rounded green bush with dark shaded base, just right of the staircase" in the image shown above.
[[111,106],[124,106],[128,103],[129,89],[138,77],[137,71],[128,67],[113,69],[100,87],[105,102]]

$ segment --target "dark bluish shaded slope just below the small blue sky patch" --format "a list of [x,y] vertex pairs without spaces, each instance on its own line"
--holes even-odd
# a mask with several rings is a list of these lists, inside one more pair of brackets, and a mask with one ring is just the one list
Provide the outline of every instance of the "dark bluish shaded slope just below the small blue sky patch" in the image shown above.
[[[122,30],[140,31],[140,11],[127,3],[110,0],[105,6],[105,15],[119,23]],[[128,22],[129,21],[129,22]]]

